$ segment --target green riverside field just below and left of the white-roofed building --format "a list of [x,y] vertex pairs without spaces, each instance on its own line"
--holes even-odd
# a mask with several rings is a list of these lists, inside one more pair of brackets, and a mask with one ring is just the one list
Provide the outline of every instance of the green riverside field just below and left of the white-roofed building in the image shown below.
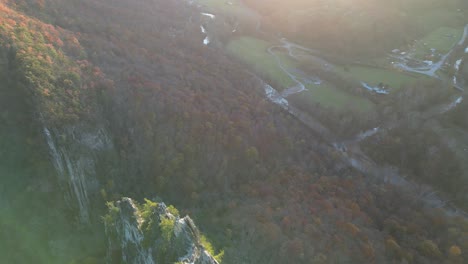
[[333,108],[338,111],[352,109],[358,112],[368,112],[375,108],[371,101],[346,93],[331,84],[322,83],[320,85],[309,84],[307,91],[294,94],[289,97],[291,102],[299,105],[318,103],[324,107]]

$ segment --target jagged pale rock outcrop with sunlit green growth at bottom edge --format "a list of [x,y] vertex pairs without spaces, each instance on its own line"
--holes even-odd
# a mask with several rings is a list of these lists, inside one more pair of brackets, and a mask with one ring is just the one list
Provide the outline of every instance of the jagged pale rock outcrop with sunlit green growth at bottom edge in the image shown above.
[[104,216],[107,263],[218,264],[202,245],[192,219],[180,218],[164,203],[146,200],[138,205],[122,198],[108,207]]

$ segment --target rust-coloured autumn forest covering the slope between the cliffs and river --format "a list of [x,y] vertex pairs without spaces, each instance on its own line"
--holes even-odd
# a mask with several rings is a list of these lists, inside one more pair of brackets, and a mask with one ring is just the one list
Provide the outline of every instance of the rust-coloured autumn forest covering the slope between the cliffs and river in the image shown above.
[[344,165],[259,80],[202,45],[192,7],[12,2],[0,4],[0,47],[18,89],[48,122],[99,117],[112,133],[114,163],[96,176],[105,199],[163,196],[231,263],[468,259],[464,218]]

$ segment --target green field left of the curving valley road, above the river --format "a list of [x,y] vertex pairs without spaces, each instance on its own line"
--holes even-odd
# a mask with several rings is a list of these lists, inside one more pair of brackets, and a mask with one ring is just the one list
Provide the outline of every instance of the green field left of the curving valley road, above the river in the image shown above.
[[[241,61],[252,66],[262,77],[269,78],[282,87],[290,87],[296,83],[278,66],[275,58],[268,53],[273,44],[253,37],[240,37],[232,40],[226,46],[227,51]],[[281,63],[290,68],[294,62],[284,54],[278,54]],[[275,87],[279,88],[279,87]]]

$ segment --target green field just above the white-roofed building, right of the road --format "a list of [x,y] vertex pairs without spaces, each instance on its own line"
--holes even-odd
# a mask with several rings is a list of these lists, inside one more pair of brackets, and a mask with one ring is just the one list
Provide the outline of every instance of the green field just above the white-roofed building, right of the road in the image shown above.
[[410,74],[397,72],[393,70],[378,69],[365,66],[350,66],[348,71],[344,67],[336,67],[338,74],[345,78],[352,78],[358,82],[366,82],[372,86],[379,83],[390,85],[390,91],[395,92],[401,88],[402,85],[414,82],[421,78],[428,78],[424,75],[412,76]]

